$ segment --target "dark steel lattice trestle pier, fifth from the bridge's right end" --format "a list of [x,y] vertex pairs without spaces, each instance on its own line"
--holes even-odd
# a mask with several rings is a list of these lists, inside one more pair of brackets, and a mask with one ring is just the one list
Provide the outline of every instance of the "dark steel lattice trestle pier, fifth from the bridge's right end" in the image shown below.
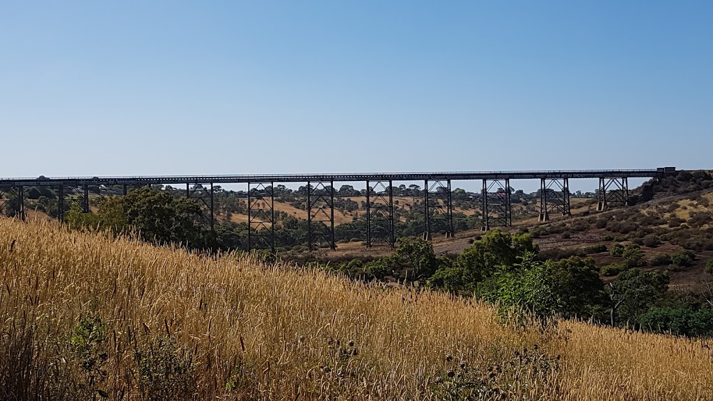
[[[374,188],[371,188],[371,184]],[[391,181],[366,181],[366,246],[394,246],[394,187]]]

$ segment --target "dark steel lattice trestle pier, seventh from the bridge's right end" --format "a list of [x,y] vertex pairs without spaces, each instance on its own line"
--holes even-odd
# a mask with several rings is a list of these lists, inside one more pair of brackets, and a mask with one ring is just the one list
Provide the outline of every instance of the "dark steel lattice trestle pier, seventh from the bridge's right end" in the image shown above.
[[247,183],[247,249],[275,252],[275,184]]

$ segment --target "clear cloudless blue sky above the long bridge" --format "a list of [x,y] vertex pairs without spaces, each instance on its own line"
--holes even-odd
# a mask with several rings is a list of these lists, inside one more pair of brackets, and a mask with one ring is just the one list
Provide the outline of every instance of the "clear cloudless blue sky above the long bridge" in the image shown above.
[[2,1],[0,176],[713,168],[711,1]]

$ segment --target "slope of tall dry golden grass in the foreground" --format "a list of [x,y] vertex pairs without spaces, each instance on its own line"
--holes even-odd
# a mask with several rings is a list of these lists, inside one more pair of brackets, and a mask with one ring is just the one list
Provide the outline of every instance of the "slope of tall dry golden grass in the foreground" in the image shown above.
[[[713,397],[713,355],[699,341],[572,322],[508,328],[488,305],[441,293],[53,223],[0,219],[0,277],[2,399],[23,390],[124,400],[183,390],[197,400]],[[106,340],[74,330],[92,310]],[[167,333],[178,348],[157,346]],[[104,362],[92,357],[104,352]],[[173,373],[159,374],[167,365]]]

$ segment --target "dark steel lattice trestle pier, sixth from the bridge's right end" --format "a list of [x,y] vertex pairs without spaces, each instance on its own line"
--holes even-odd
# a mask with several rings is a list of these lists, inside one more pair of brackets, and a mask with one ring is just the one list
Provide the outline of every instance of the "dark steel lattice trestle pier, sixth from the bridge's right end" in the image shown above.
[[[313,185],[314,184],[314,185]],[[307,248],[334,245],[334,181],[307,181]]]

